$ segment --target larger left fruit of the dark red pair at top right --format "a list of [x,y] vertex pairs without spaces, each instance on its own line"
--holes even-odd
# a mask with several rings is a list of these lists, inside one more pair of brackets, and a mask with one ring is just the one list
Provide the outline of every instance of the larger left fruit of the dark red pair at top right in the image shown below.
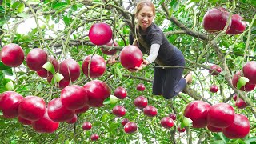
[[[222,7],[213,8],[208,10],[203,17],[202,26],[207,32],[218,32],[224,29],[226,26],[229,13]],[[230,28],[227,28],[227,30]]]

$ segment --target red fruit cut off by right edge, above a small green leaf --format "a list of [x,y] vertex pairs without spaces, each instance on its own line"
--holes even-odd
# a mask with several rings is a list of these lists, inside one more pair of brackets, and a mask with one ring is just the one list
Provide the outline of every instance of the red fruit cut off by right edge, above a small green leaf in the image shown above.
[[256,84],[256,61],[246,62],[242,67],[243,75],[249,79],[250,84]]

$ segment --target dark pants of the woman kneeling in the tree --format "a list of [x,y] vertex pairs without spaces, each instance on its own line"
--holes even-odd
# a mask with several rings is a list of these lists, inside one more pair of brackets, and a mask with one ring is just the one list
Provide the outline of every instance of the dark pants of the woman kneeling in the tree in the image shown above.
[[[185,66],[185,59],[178,48],[174,49],[172,62],[168,66]],[[183,68],[154,68],[153,94],[162,95],[166,99],[173,98],[186,87],[186,79],[182,78]]]

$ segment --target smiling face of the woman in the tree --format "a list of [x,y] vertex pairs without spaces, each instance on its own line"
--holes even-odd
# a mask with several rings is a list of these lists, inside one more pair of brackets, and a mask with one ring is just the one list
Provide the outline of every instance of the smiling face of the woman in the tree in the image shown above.
[[142,9],[138,12],[138,25],[142,27],[142,30],[146,30],[153,20],[154,20],[154,13],[150,6],[143,6]]

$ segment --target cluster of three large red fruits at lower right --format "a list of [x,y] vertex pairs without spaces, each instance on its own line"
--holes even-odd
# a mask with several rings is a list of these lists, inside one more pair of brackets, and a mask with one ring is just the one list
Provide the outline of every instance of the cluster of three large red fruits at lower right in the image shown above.
[[227,103],[210,106],[203,101],[190,102],[184,116],[193,121],[194,128],[205,128],[212,132],[222,132],[227,138],[244,138],[250,132],[250,122],[245,115],[235,114]]

